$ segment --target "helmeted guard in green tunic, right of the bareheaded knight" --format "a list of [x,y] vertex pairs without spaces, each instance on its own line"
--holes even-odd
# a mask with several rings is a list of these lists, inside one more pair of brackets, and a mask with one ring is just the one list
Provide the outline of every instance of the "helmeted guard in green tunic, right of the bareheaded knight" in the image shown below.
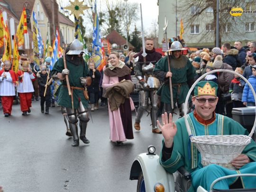
[[[154,68],[155,77],[164,82],[157,94],[161,97],[161,102],[164,103],[165,112],[167,112],[168,116],[174,112],[171,107],[169,77],[172,79],[173,103],[174,105],[175,103],[178,104],[180,117],[183,117],[185,107],[189,107],[184,105],[185,99],[196,75],[190,60],[182,55],[182,50],[185,49],[180,42],[173,42],[171,49],[168,50],[168,52],[171,51],[171,55],[167,54],[167,56],[161,58]],[[171,72],[168,70],[167,57],[169,57]]]

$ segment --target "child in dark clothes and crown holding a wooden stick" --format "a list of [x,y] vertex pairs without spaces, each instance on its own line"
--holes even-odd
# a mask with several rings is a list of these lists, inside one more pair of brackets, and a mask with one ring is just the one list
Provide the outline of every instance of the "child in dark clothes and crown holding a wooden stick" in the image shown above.
[[[41,113],[45,112],[45,103],[46,103],[46,112],[45,114],[49,114],[49,107],[51,106],[51,89],[49,85],[46,83],[50,80],[51,75],[47,72],[46,65],[41,66],[41,70],[39,72],[38,84],[39,84],[39,96],[41,97]],[[47,81],[48,80],[48,81]],[[51,83],[52,84],[52,83]],[[45,94],[46,92],[46,94]]]

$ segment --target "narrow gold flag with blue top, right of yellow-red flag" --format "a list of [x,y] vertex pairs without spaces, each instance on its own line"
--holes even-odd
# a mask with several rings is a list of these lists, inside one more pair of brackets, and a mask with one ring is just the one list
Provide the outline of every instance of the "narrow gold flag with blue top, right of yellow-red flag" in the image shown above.
[[37,23],[36,23],[37,19],[35,16],[35,12],[33,11],[33,22],[32,22],[32,31],[33,31],[33,56],[34,56],[34,62],[37,63],[37,65],[39,65],[39,50],[38,50],[38,38],[37,38],[37,34],[38,34],[38,28],[37,28]]

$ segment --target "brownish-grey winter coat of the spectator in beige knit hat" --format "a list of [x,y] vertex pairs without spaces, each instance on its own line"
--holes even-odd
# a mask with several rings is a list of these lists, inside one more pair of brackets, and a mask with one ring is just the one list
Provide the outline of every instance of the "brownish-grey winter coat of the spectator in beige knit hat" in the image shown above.
[[[228,69],[230,71],[233,71],[232,67],[227,63],[223,63],[220,69]],[[229,92],[229,84],[231,83],[233,78],[234,78],[234,75],[232,73],[228,73],[228,72],[218,73],[219,89],[221,90],[222,93]]]

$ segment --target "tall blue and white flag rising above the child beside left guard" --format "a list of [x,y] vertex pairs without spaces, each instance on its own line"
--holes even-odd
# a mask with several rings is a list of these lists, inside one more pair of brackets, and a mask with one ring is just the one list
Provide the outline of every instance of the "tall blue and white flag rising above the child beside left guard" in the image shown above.
[[100,34],[99,18],[97,15],[96,0],[95,0],[95,7],[94,7],[92,51],[93,51],[92,58],[95,62],[95,67],[99,67],[101,65],[102,53],[101,53],[101,34]]

